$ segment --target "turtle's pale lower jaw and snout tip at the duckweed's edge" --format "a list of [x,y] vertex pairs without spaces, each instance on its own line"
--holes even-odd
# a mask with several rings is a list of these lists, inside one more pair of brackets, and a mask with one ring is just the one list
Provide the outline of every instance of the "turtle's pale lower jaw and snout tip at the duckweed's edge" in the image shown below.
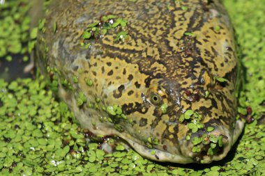
[[[172,153],[165,150],[159,150],[157,148],[148,148],[140,143],[132,141],[127,138],[126,141],[142,156],[152,159],[154,161],[161,162],[172,162],[172,163],[211,163],[212,161],[219,161],[224,159],[227,156],[229,150],[231,150],[232,146],[239,138],[241,131],[243,130],[244,122],[241,120],[236,120],[236,126],[233,131],[226,129],[225,127],[219,127],[214,131],[209,132],[207,136],[209,138],[212,136],[210,142],[208,144],[200,143],[199,152],[192,151],[195,145],[192,143],[192,139],[198,136],[202,136],[199,133],[196,133],[192,138],[187,141],[186,139],[182,139],[179,141],[179,145],[181,145],[180,153]],[[220,138],[220,141],[215,142],[215,139]],[[215,138],[215,139],[214,139]],[[213,141],[213,142],[212,142]],[[209,148],[211,148],[211,143],[216,144],[216,148],[213,149],[213,153],[209,153]],[[222,143],[222,144],[221,144]],[[221,145],[221,146],[219,146]]]

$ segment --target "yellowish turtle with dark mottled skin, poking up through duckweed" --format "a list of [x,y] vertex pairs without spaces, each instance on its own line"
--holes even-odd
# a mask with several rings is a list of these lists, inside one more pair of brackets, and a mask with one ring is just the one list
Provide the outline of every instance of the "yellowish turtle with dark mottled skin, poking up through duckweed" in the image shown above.
[[[124,30],[129,32],[129,40],[114,42],[121,30],[118,27],[89,40],[89,49],[80,46],[87,25],[109,13],[128,21]],[[185,35],[187,32],[196,37]],[[149,159],[176,163],[220,160],[243,129],[243,122],[236,120],[239,66],[234,35],[218,0],[55,0],[46,15],[45,32],[38,35],[36,56],[43,72],[47,66],[58,70],[54,74],[59,77],[59,95],[82,127],[94,134],[120,136]],[[50,74],[52,79],[54,74]],[[214,77],[228,81],[220,83]],[[64,79],[72,89],[61,86]],[[85,79],[91,79],[93,86],[87,86]],[[79,93],[87,99],[82,106],[77,106]],[[158,103],[151,99],[153,95]],[[168,105],[166,113],[162,113],[162,104]],[[127,119],[116,120],[103,110],[114,105],[121,106]],[[204,127],[195,133],[188,128],[189,120],[179,122],[188,109],[202,115]],[[207,127],[214,130],[208,132]],[[221,135],[224,144],[213,155],[207,154],[209,145],[202,143],[197,145],[200,152],[192,152],[192,139],[202,134]],[[146,147],[147,138],[158,143]]]

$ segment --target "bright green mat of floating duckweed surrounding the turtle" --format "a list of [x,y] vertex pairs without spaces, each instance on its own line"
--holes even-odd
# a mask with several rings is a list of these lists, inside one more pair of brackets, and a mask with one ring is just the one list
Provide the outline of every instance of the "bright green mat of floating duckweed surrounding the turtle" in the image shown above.
[[[265,175],[265,1],[224,2],[246,68],[245,98],[240,101],[252,108],[255,118],[228,157],[210,165],[155,163],[121,141],[98,136],[114,146],[113,153],[104,152],[98,142],[87,140],[89,131],[81,129],[66,104],[54,98],[42,76],[11,83],[0,79],[0,175]],[[16,10],[5,12],[14,20]],[[0,24],[5,20],[1,16]],[[0,39],[6,36],[0,34]]]

